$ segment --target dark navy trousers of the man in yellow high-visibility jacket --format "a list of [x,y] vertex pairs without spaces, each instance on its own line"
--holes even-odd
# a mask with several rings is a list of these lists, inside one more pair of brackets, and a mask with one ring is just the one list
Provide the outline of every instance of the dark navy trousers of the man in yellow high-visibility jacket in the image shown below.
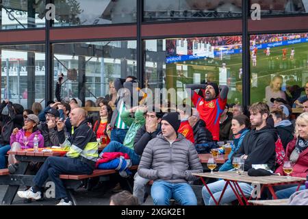
[[34,177],[34,183],[38,187],[42,187],[50,177],[51,181],[55,183],[55,198],[66,198],[66,189],[63,185],[61,174],[92,174],[93,169],[81,160],[70,157],[48,157],[40,170]]

